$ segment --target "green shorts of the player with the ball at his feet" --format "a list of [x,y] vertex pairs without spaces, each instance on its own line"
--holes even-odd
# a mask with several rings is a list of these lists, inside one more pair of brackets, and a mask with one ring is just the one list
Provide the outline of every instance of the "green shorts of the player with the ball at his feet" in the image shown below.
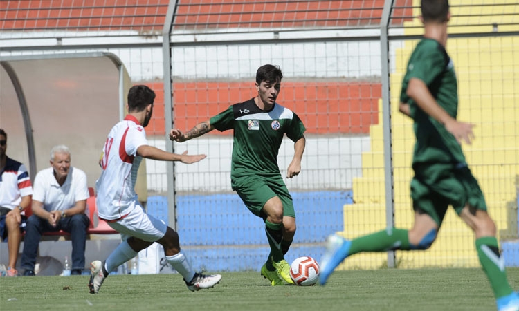
[[283,203],[283,216],[295,218],[292,196],[289,194],[289,189],[286,188],[281,176],[271,178],[247,176],[235,178],[231,184],[248,210],[256,216],[264,218],[262,209],[266,201],[277,196]]

